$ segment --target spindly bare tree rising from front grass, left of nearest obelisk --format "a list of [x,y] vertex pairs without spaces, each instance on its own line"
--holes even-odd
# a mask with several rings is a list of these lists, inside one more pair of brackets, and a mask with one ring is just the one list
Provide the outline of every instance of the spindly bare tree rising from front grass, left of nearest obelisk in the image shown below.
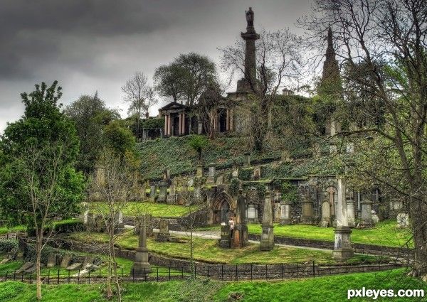
[[105,207],[100,206],[97,209],[97,215],[102,217],[105,232],[108,235],[107,297],[112,297],[112,280],[114,279],[117,299],[121,301],[114,247],[117,238],[120,237],[120,233],[117,233],[119,217],[133,195],[135,164],[132,163],[132,158],[129,156],[118,156],[114,151],[104,149],[100,153],[97,166],[103,173],[97,177],[96,181],[93,181],[91,190],[105,200]]

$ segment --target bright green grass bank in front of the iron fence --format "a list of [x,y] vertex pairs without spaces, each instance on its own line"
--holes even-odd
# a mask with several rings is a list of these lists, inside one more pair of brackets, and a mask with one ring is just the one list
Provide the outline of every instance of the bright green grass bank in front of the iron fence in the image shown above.
[[[427,292],[427,284],[404,274],[403,270],[378,273],[346,274],[278,282],[169,281],[162,283],[123,284],[122,298],[130,301],[201,302],[201,301],[347,301],[349,288],[420,288]],[[0,301],[35,301],[36,287],[20,282],[0,284]],[[103,284],[62,284],[42,287],[43,301],[93,302],[107,301]],[[231,297],[241,297],[235,300]],[[115,301],[110,300],[110,301]],[[352,301],[391,301],[390,298],[353,298]],[[417,298],[393,298],[392,301],[422,301]]]

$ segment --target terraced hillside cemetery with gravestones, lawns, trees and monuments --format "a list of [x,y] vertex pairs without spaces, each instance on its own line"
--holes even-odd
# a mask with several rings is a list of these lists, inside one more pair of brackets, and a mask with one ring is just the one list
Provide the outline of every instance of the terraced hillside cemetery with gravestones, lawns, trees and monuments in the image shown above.
[[[344,301],[362,286],[427,291],[425,158],[407,151],[410,131],[401,149],[389,145],[399,139],[385,105],[359,91],[371,82],[349,80],[364,66],[339,61],[346,40],[332,23],[322,28],[321,77],[303,93],[280,82],[301,77],[300,60],[289,58],[300,40],[284,50],[292,35],[258,31],[252,7],[245,17],[238,49],[220,49],[221,64],[243,75],[231,76],[235,90],[222,91],[215,64],[191,53],[160,66],[144,90],[143,102],[155,93],[168,101],[157,117],[144,104],[136,122],[135,112],[121,119],[97,92],[60,109],[57,82],[21,95],[25,114],[0,136],[0,301],[33,301],[34,292],[38,301]],[[277,58],[263,57],[269,50]],[[174,68],[194,58],[214,71],[183,97],[174,85],[189,70]],[[265,65],[280,60],[278,70]],[[296,74],[280,73],[289,66]],[[168,72],[177,72],[173,89]],[[358,119],[371,102],[374,113]]]

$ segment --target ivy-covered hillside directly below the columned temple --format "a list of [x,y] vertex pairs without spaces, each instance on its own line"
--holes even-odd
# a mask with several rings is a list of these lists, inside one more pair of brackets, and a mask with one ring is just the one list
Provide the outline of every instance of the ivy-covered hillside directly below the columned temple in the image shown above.
[[[141,153],[141,172],[144,178],[161,178],[166,169],[172,175],[195,171],[197,153],[189,146],[189,136],[155,139],[137,144]],[[245,137],[218,137],[209,141],[203,151],[204,162],[217,164],[217,168],[231,167],[233,163],[243,163],[248,151]],[[280,151],[267,150],[263,153],[251,153],[251,161],[278,160]]]

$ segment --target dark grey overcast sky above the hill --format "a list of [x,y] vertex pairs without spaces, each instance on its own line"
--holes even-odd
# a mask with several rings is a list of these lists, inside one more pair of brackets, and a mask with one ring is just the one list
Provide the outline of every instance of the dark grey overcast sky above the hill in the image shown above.
[[151,81],[190,51],[218,63],[217,48],[245,31],[249,6],[258,31],[300,33],[295,21],[310,12],[310,0],[1,0],[0,132],[23,114],[19,94],[42,81],[59,81],[63,104],[98,90],[125,117],[120,87],[135,71]]

